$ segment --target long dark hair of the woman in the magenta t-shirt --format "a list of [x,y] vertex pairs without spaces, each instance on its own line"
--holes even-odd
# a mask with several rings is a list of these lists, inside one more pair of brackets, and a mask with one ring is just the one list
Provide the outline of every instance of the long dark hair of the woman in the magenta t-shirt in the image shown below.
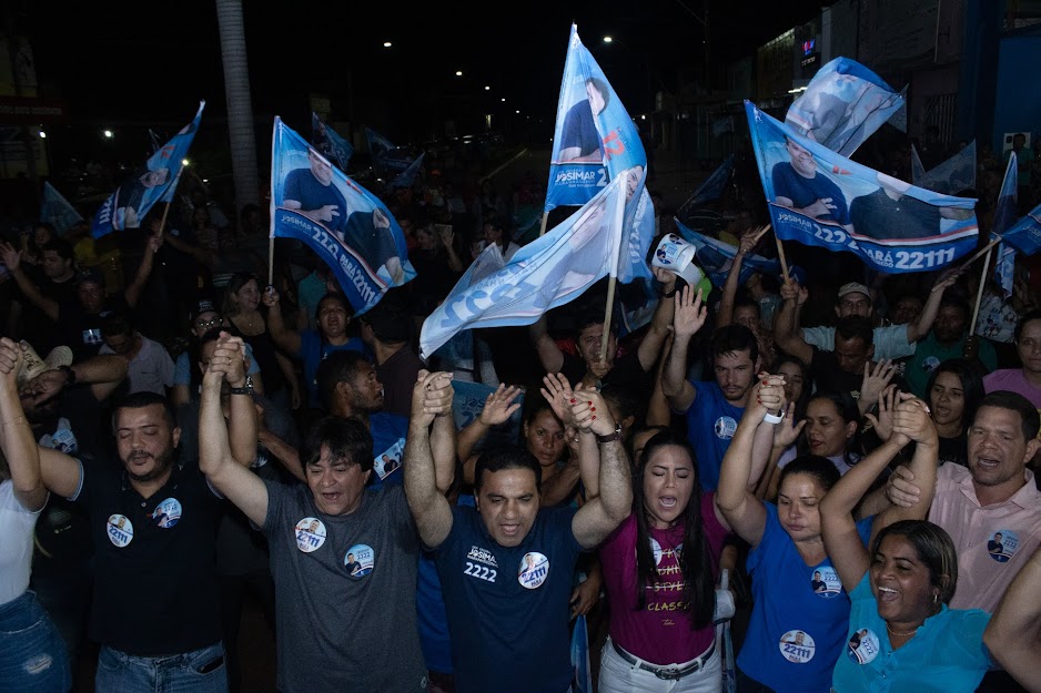
[[646,608],[646,591],[654,589],[651,585],[658,582],[658,568],[650,550],[650,529],[647,511],[644,508],[644,475],[647,471],[647,462],[655,456],[655,452],[659,448],[669,446],[681,448],[690,458],[694,468],[694,488],[683,513],[684,543],[683,551],[677,557],[677,563],[685,582],[686,610],[690,612],[694,630],[700,630],[712,622],[712,612],[716,608],[716,579],[712,568],[717,561],[711,557],[701,528],[701,487],[698,482],[698,466],[694,448],[690,447],[685,436],[678,436],[673,430],[664,430],[648,440],[639,465],[636,467],[636,478],[633,483],[633,512],[636,514],[637,608]]

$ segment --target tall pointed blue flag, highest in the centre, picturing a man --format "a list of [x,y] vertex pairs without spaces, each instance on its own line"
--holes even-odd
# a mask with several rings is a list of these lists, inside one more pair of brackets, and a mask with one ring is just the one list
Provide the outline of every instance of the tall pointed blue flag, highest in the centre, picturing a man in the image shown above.
[[639,166],[646,177],[647,154],[633,119],[572,24],[557,101],[545,211],[580,206],[623,171]]

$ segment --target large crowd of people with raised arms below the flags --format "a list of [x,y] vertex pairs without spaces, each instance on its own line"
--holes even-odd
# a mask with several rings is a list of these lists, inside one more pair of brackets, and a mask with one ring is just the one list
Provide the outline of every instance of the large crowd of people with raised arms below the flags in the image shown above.
[[0,691],[247,690],[246,600],[281,693],[578,693],[576,624],[586,691],[1041,691],[1028,258],[1009,297],[979,265],[740,281],[777,246],[725,198],[708,295],[656,267],[637,329],[595,285],[421,359],[544,194],[446,164],[378,191],[416,277],[362,315],[200,186],[114,248],[0,243]]

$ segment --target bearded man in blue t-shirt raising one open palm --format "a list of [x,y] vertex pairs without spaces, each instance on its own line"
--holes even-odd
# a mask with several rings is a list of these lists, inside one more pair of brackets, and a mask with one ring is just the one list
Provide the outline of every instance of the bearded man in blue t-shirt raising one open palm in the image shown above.
[[687,437],[698,461],[701,489],[715,490],[719,485],[722,456],[730,447],[737,422],[759,373],[759,343],[744,325],[727,325],[712,335],[712,369],[715,383],[687,380],[687,350],[690,338],[705,324],[707,308],[691,287],[684,287],[681,300],[673,317],[673,350],[661,376],[661,390],[669,407],[687,415]]

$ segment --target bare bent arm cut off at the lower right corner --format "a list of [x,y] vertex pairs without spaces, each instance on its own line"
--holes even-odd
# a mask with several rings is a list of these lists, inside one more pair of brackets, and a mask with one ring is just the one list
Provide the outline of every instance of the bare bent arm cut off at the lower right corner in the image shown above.
[[991,656],[1031,693],[1041,693],[1041,549],[1023,565],[983,631]]

